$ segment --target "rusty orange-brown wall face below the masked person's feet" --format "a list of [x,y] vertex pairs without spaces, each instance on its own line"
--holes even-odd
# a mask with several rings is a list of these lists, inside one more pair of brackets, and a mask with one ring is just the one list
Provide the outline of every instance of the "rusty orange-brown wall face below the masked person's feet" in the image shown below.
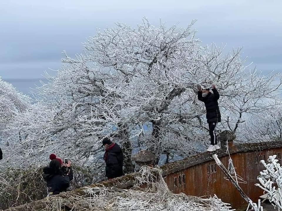
[[[239,185],[244,192],[254,201],[257,202],[263,191],[256,187],[259,183],[257,177],[259,171],[264,169],[259,162],[262,159],[267,159],[268,156],[276,154],[278,159],[281,159],[282,148],[264,149],[261,151],[238,152],[231,154],[236,173],[239,174],[246,184]],[[229,156],[219,158],[227,168]],[[173,193],[183,192],[187,195],[204,196],[216,194],[223,202],[231,203],[233,208],[241,207],[246,202],[240,196],[238,190],[224,179],[224,174],[217,167],[214,160],[200,163],[187,169],[169,173],[164,180],[168,184]]]

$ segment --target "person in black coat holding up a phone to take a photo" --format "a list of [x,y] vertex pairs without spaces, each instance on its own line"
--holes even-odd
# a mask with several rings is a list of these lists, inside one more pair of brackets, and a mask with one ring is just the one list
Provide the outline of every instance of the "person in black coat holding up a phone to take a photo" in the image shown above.
[[73,179],[73,171],[70,162],[61,168],[61,163],[57,159],[50,162],[49,166],[43,169],[43,178],[47,182],[48,195],[56,195],[67,190],[70,181]]

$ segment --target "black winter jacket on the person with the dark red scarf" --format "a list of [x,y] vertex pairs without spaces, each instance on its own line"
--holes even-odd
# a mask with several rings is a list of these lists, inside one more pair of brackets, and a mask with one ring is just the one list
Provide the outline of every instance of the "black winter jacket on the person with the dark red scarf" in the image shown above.
[[109,149],[106,162],[106,177],[116,178],[123,175],[123,155],[118,144]]

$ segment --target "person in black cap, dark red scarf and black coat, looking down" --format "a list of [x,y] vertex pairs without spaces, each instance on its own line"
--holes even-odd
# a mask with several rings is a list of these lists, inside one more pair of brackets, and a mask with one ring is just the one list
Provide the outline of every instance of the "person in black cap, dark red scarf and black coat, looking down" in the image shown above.
[[106,177],[113,179],[122,176],[123,154],[120,146],[107,137],[103,139],[103,146],[105,147]]

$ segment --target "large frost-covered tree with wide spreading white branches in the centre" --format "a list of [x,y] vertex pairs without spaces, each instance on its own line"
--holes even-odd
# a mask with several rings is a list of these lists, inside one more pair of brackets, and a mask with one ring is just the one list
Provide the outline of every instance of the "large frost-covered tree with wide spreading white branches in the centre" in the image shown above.
[[57,75],[39,89],[38,103],[19,117],[26,137],[21,150],[29,157],[56,150],[96,163],[101,139],[110,136],[123,147],[126,172],[133,169],[132,149],[152,150],[156,162],[162,152],[187,156],[208,136],[198,84],[216,84],[221,129],[237,133],[245,114],[265,110],[263,101],[276,98],[281,76],[246,72],[241,48],[224,55],[224,47],[201,47],[193,24],[117,23],[89,38],[76,58],[64,53]]

